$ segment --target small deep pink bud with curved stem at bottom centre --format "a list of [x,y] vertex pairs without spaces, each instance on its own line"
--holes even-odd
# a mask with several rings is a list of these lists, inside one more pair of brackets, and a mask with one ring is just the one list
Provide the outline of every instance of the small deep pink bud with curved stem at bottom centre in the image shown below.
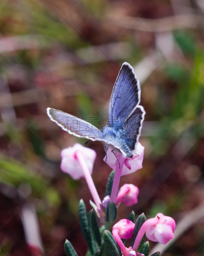
[[120,246],[123,256],[129,256],[128,248],[125,247],[121,239],[128,239],[132,237],[135,223],[131,220],[122,219],[119,220],[112,230],[115,241]]

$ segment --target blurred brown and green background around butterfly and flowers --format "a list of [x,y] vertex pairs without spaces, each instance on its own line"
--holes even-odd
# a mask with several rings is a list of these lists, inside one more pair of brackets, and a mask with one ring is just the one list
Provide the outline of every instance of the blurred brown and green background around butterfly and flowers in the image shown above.
[[[46,108],[106,121],[124,61],[146,111],[143,169],[122,177],[140,188],[121,204],[178,225],[165,256],[204,255],[204,1],[2,0],[0,3],[0,255],[85,255],[77,207],[91,209],[85,180],[60,170],[70,138]],[[100,142],[93,180],[103,198],[110,167]],[[151,244],[151,247],[153,244]],[[161,248],[159,248],[160,250]]]

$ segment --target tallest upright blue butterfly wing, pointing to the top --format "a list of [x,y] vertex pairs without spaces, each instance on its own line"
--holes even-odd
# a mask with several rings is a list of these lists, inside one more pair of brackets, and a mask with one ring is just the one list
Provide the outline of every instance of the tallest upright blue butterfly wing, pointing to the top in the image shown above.
[[116,79],[109,105],[109,125],[120,118],[123,122],[140,103],[141,89],[133,67],[124,62]]

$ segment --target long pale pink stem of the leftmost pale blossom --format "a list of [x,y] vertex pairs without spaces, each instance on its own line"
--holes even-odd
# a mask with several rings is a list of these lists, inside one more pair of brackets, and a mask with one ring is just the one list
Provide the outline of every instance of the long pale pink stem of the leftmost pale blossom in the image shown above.
[[93,180],[91,178],[91,174],[90,174],[89,169],[88,169],[88,167],[86,165],[84,157],[83,157],[83,155],[81,154],[81,152],[79,150],[77,150],[75,154],[76,154],[77,159],[79,161],[79,164],[81,165],[82,170],[84,172],[84,177],[86,179],[86,183],[87,183],[87,185],[89,187],[89,190],[91,192],[93,200],[94,200],[97,208],[100,209],[100,204],[102,204],[102,203],[101,203],[100,197],[98,196],[98,192],[97,192],[96,187],[95,187],[95,185],[93,183]]

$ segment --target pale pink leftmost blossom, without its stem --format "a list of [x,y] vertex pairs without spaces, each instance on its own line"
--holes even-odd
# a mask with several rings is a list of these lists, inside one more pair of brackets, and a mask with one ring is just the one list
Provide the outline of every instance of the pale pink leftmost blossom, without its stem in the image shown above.
[[90,174],[92,174],[93,164],[96,159],[96,152],[93,149],[85,148],[79,143],[76,143],[73,147],[62,149],[60,167],[63,172],[68,173],[74,180],[84,178],[84,172],[76,156],[77,151],[80,151],[84,156]]

